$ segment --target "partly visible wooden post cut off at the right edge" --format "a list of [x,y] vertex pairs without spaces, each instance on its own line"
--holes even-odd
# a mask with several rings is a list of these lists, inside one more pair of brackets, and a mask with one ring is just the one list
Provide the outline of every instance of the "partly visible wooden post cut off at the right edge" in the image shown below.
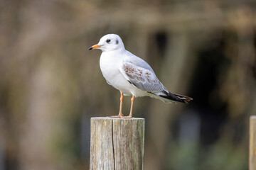
[[256,116],[250,116],[249,169],[256,169]]

